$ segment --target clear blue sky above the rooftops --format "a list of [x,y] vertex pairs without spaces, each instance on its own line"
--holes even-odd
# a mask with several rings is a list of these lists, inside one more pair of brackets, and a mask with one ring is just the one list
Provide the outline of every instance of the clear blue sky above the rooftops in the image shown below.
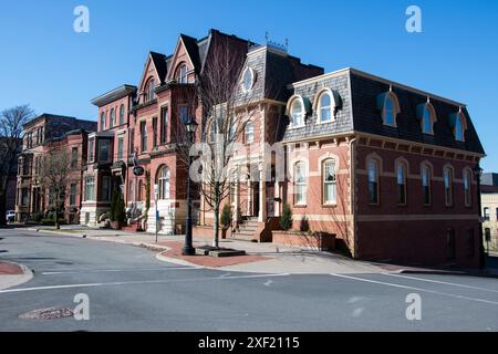
[[[90,33],[73,10],[90,9]],[[422,33],[405,29],[422,9]],[[210,28],[263,43],[289,39],[291,54],[334,71],[352,66],[466,103],[498,171],[498,1],[43,0],[0,6],[0,108],[96,119],[90,100],[137,84],[149,50],[174,51],[178,33]]]

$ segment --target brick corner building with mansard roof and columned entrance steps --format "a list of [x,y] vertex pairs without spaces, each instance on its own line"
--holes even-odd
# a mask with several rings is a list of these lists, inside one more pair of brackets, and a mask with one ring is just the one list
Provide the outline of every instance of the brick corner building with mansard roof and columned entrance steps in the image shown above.
[[[465,104],[354,69],[312,69],[281,81],[297,67],[286,67],[291,61],[268,45],[248,53],[245,72],[257,77],[250,90],[279,87],[280,95],[259,105],[269,117],[252,122],[260,148],[234,159],[238,177],[226,202],[235,215],[242,210],[242,227],[232,236],[271,240],[287,202],[294,229],[305,221],[332,233],[357,259],[478,266],[473,169],[485,153]],[[248,90],[243,80],[240,90]],[[264,164],[251,169],[259,174],[239,176],[268,162],[261,143],[283,145],[283,181],[268,176]],[[201,223],[212,225],[209,210]]]

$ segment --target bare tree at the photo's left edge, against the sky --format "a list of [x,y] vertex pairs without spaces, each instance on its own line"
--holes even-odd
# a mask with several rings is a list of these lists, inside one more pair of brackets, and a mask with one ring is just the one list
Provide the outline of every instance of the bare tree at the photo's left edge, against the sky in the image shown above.
[[23,125],[33,116],[29,105],[0,113],[0,225],[6,222],[7,188],[22,147]]

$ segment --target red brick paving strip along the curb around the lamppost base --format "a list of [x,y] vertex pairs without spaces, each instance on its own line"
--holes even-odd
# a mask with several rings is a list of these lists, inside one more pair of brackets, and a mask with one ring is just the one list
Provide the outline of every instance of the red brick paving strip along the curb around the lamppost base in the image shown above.
[[255,254],[234,256],[234,257],[211,257],[211,256],[184,256],[181,254],[181,242],[168,242],[168,250],[159,252],[157,259],[174,262],[183,266],[215,268],[220,269],[230,266],[243,266],[260,261],[271,260],[271,257],[262,257]]

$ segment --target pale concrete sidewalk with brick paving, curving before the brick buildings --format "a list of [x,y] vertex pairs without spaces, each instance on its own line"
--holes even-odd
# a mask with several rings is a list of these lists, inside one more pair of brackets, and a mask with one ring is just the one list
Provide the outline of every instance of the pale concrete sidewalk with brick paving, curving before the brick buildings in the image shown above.
[[[355,261],[346,257],[325,252],[302,251],[298,248],[278,247],[272,243],[256,243],[240,240],[220,240],[220,247],[245,250],[247,256],[215,258],[203,256],[183,256],[183,236],[158,236],[135,233],[122,230],[101,230],[81,227],[64,227],[62,230],[46,230],[48,228],[28,228],[39,232],[83,237],[101,241],[118,242],[145,247],[158,251],[157,259],[193,267],[218,269],[234,272],[258,273],[293,273],[293,274],[328,274],[328,273],[378,273],[385,272],[376,264]],[[194,242],[194,247],[205,246],[206,242]]]

